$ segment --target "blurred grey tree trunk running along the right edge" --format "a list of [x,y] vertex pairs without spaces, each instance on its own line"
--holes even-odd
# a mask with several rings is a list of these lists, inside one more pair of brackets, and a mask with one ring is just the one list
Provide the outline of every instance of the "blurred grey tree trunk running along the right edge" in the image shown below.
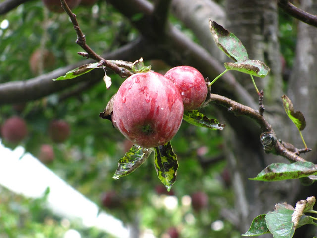
[[[314,4],[315,3],[315,4]],[[302,0],[301,9],[311,14],[317,14],[317,2]],[[317,29],[303,22],[298,23],[296,45],[296,59],[290,77],[288,96],[294,104],[294,109],[303,113],[306,119],[306,128],[302,131],[303,137],[309,148],[313,150],[303,157],[317,163]],[[297,147],[304,147],[299,132],[289,120],[291,133],[289,140]],[[299,185],[293,203],[306,199],[308,196],[317,196],[317,185],[304,187]],[[316,210],[316,209],[315,209]],[[312,235],[313,234],[313,235]],[[295,232],[296,238],[308,238],[316,235],[316,228],[304,226]]]

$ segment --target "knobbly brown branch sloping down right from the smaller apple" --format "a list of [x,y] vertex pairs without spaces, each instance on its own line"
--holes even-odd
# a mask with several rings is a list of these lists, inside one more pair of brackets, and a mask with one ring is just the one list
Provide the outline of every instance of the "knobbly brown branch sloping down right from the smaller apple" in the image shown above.
[[258,111],[217,94],[211,94],[209,102],[227,108],[228,111],[233,112],[235,116],[247,116],[255,120],[264,132],[261,134],[260,139],[266,153],[281,155],[292,162],[305,161],[302,157],[298,156],[295,151],[290,151],[281,141],[277,140],[272,126]]

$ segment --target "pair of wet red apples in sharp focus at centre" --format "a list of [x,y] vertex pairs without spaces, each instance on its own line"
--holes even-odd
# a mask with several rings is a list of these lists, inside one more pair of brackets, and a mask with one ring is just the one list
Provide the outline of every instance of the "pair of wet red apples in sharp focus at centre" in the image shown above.
[[164,76],[136,73],[115,95],[112,123],[134,144],[161,146],[177,133],[184,110],[200,107],[206,96],[203,75],[190,66],[174,67]]

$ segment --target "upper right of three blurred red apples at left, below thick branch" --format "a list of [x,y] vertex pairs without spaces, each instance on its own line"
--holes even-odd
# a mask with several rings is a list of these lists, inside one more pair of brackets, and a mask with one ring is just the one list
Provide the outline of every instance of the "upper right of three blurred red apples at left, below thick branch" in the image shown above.
[[49,125],[49,135],[53,142],[64,142],[70,134],[70,128],[64,120],[53,120]]

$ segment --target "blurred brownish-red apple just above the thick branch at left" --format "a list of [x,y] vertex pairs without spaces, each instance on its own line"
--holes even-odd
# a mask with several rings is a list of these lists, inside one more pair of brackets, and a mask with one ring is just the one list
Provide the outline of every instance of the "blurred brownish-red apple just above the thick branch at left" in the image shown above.
[[29,60],[30,69],[34,75],[38,75],[45,69],[52,69],[55,61],[55,55],[51,51],[36,49]]

